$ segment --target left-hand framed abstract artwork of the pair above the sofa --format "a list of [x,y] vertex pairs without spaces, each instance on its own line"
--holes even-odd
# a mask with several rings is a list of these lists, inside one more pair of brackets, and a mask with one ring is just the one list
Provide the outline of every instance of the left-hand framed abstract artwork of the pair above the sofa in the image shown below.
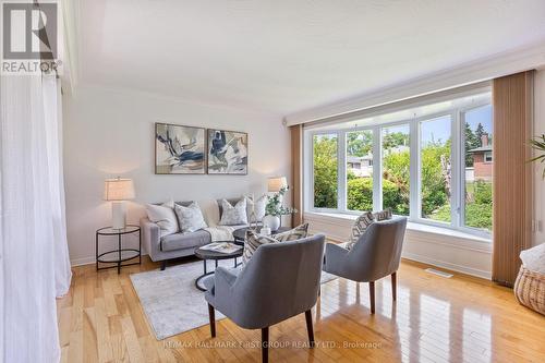
[[206,130],[169,123],[155,124],[155,173],[206,173]]

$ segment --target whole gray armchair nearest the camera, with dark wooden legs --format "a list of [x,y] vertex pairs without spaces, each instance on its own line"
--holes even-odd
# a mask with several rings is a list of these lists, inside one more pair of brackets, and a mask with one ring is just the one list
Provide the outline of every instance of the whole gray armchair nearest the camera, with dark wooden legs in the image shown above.
[[269,327],[305,313],[311,347],[314,346],[311,308],[316,304],[325,238],[261,245],[238,273],[218,267],[204,281],[216,336],[215,308],[246,329],[262,329],[262,360],[268,361]]

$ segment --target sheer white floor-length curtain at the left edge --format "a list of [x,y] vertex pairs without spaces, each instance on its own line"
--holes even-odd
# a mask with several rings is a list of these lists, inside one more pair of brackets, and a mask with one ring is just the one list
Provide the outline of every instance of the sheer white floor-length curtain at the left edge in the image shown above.
[[0,344],[4,362],[58,362],[56,297],[70,287],[59,89],[1,76]]

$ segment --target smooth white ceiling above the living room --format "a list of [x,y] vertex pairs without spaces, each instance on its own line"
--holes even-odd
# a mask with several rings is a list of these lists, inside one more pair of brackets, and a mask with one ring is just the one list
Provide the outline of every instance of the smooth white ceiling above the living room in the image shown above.
[[545,40],[543,0],[84,0],[80,83],[284,116]]

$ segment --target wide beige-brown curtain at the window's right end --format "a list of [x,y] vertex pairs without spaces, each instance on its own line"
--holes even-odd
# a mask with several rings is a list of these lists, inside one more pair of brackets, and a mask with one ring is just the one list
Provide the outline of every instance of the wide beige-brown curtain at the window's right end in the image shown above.
[[494,255],[492,278],[512,287],[531,246],[534,72],[494,80]]

